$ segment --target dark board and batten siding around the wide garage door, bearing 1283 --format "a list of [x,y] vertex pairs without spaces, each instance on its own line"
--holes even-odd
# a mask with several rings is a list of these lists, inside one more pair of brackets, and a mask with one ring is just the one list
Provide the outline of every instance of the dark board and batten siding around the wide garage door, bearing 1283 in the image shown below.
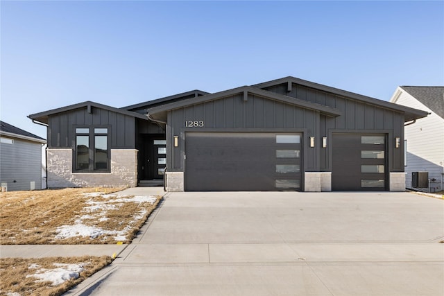
[[[316,132],[318,118],[318,112],[314,110],[303,109],[253,94],[248,94],[248,100],[244,101],[244,96],[237,94],[169,111],[167,139],[173,139],[173,136],[183,138],[184,131],[198,132],[203,129],[210,132],[218,130],[230,130],[231,132],[291,130],[291,132],[305,132],[311,135]],[[204,127],[185,128],[185,121],[203,121]],[[183,146],[174,148],[169,141],[167,148],[167,157],[170,159],[169,171],[183,169],[181,157],[185,153]],[[171,153],[171,151],[173,152]],[[317,165],[315,149],[306,149],[303,155],[305,171],[315,171]]]

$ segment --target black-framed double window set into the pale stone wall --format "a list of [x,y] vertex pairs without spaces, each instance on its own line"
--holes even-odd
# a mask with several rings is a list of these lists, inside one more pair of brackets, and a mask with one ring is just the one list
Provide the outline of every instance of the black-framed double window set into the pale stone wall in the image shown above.
[[75,171],[110,171],[108,128],[76,128]]

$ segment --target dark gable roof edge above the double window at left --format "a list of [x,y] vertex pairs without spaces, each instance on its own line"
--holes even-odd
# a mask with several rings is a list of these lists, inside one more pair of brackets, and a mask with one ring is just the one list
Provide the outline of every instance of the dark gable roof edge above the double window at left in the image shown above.
[[50,116],[50,115],[61,113],[61,112],[67,112],[67,111],[71,111],[71,110],[76,110],[76,109],[82,109],[82,108],[88,108],[89,109],[91,107],[96,107],[96,108],[103,109],[103,110],[108,110],[108,111],[112,111],[112,112],[116,112],[116,113],[120,113],[120,114],[124,114],[124,115],[128,115],[128,116],[133,116],[133,117],[136,117],[136,118],[139,118],[139,119],[148,120],[146,118],[146,116],[144,116],[142,114],[139,114],[137,112],[132,112],[132,111],[124,110],[124,109],[114,108],[114,107],[110,107],[108,105],[102,105],[102,104],[99,104],[99,103],[94,103],[92,101],[86,101],[86,102],[83,102],[83,103],[69,105],[69,106],[66,106],[66,107],[61,107],[61,108],[57,108],[57,109],[53,109],[53,110],[49,110],[49,111],[45,111],[45,112],[31,114],[31,115],[28,115],[28,118],[33,119],[35,121],[39,121],[41,123],[48,124],[48,116]]

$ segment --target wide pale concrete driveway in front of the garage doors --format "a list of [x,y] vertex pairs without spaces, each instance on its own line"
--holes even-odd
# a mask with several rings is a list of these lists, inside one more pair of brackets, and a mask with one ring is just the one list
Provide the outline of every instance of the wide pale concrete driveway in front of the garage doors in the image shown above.
[[168,193],[67,295],[444,295],[444,200],[414,193]]

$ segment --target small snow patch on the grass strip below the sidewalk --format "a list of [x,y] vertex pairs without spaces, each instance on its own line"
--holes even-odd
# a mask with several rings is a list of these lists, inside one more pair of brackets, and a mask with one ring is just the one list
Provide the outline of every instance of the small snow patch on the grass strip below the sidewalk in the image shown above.
[[80,264],[65,264],[65,263],[53,263],[56,268],[46,269],[41,268],[37,270],[34,275],[28,275],[26,277],[37,277],[38,281],[51,281],[52,286],[58,286],[63,284],[69,279],[77,279],[80,277],[80,272],[83,272],[85,263]]

